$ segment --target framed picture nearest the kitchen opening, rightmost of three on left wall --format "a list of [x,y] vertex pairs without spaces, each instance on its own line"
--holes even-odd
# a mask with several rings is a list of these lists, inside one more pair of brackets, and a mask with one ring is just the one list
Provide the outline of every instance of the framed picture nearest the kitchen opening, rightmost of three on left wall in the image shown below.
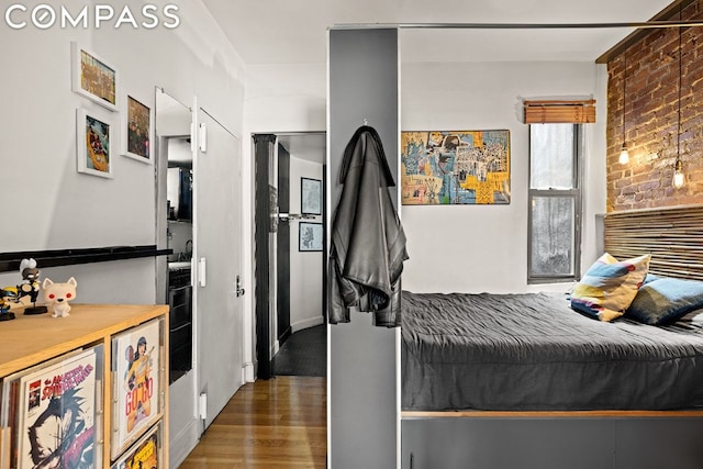
[[150,164],[154,142],[154,111],[143,101],[127,94],[122,120],[122,154]]

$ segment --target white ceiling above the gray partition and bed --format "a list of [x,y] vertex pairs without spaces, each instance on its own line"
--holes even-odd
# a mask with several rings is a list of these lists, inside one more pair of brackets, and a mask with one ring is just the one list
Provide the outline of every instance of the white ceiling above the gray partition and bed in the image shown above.
[[[670,0],[203,0],[247,65],[326,60],[327,29],[399,23],[636,23]],[[633,29],[401,30],[403,62],[595,60]]]

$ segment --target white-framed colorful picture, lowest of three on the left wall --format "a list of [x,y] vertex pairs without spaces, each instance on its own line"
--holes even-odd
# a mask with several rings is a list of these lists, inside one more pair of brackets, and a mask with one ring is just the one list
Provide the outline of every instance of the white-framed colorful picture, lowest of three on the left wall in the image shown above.
[[112,155],[116,144],[113,114],[102,110],[76,111],[76,158],[78,172],[112,178]]

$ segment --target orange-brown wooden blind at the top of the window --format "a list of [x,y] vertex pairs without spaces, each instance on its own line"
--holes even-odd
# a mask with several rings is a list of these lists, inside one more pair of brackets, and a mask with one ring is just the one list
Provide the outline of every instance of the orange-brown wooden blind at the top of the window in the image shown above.
[[525,124],[592,124],[595,122],[595,100],[524,101]]

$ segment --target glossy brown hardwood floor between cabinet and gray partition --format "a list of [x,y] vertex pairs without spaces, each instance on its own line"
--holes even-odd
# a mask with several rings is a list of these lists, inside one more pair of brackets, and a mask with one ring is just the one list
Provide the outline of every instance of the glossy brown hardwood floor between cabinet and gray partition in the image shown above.
[[324,468],[326,407],[325,378],[246,383],[180,469]]

